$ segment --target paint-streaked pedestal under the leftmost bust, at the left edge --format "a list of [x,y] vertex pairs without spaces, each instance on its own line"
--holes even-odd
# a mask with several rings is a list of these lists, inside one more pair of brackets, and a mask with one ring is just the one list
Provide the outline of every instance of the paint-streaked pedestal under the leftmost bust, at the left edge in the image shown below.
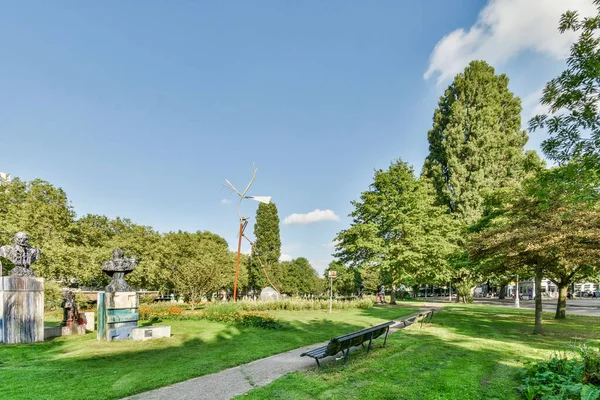
[[44,340],[44,279],[0,278],[0,342]]

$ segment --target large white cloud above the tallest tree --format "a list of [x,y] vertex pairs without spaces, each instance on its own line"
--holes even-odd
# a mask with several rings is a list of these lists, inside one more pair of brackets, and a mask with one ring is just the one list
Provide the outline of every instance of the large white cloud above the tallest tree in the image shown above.
[[578,10],[580,16],[596,13],[591,0],[490,0],[475,25],[450,32],[436,44],[423,77],[437,74],[440,84],[472,60],[497,65],[525,51],[563,59],[576,39],[573,32],[558,32],[567,10]]

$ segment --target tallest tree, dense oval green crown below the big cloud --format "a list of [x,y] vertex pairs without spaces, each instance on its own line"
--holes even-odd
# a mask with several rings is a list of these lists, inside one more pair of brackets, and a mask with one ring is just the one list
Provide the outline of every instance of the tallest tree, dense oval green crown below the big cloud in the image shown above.
[[438,102],[428,133],[424,174],[440,204],[467,223],[484,211],[484,197],[522,177],[521,100],[508,77],[485,61],[472,61]]

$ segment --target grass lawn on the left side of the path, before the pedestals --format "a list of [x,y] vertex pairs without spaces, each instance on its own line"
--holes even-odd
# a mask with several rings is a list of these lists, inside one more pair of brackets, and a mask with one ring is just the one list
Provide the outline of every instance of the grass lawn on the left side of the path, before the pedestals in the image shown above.
[[[95,333],[0,345],[2,399],[115,399],[217,372],[415,312],[415,308],[280,311],[281,330],[163,321],[172,337],[99,342]],[[49,315],[48,324],[56,324]]]

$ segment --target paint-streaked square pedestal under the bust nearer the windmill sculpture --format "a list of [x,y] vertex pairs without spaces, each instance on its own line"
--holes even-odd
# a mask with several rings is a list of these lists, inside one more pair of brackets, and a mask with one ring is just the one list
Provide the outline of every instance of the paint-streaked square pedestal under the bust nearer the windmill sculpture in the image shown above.
[[98,293],[98,340],[129,339],[138,320],[136,292]]

